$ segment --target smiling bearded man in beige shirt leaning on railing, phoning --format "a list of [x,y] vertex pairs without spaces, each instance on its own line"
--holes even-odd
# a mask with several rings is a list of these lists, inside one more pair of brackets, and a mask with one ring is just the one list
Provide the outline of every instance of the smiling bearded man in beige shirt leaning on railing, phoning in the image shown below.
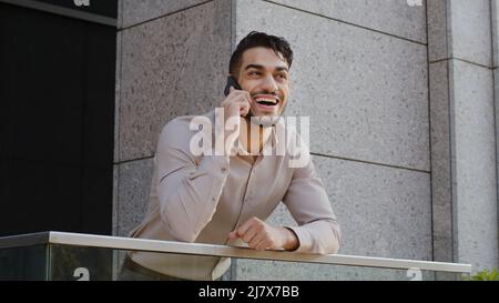
[[[196,134],[190,128],[194,117],[169,122],[156,148],[147,213],[131,236],[245,244],[258,251],[337,252],[339,226],[308,150],[308,161],[299,168],[289,165],[287,153],[262,153],[276,144],[272,134],[283,127],[275,118],[288,102],[292,62],[283,38],[251,32],[237,44],[230,61],[232,87],[221,102],[225,123],[236,122],[213,131],[235,152],[195,154],[190,144]],[[203,117],[215,124],[215,111]],[[298,226],[265,222],[281,201]],[[228,266],[226,257],[132,252],[121,279],[217,280]]]

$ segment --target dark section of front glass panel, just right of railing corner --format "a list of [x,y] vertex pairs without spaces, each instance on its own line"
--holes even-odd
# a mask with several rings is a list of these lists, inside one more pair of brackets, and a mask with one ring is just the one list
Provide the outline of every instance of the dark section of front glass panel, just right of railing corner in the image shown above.
[[112,280],[113,250],[50,244],[52,281]]

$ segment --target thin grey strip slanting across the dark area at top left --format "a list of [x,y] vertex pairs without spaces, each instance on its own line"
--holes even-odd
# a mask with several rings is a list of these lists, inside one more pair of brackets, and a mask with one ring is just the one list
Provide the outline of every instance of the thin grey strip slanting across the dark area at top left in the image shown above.
[[73,10],[73,9],[58,7],[54,4],[43,3],[43,2],[39,2],[39,1],[33,1],[33,0],[0,0],[0,2],[12,4],[12,6],[18,6],[18,7],[23,7],[23,8],[29,8],[29,9],[35,9],[35,10],[45,11],[45,12],[51,12],[54,14],[60,14],[60,16],[70,17],[70,18],[74,18],[74,19],[81,19],[81,20],[100,23],[100,24],[104,24],[104,26],[111,26],[114,28],[118,26],[116,19],[110,18],[110,17],[103,17],[103,16],[99,16],[96,13]]

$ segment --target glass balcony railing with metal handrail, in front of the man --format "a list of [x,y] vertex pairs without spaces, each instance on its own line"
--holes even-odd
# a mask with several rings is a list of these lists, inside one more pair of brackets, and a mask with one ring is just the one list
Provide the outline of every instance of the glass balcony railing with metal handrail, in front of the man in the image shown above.
[[[121,280],[121,264],[131,251],[231,257],[222,277],[227,281],[456,281],[471,273],[470,264],[43,232],[0,238],[0,280]],[[185,266],[195,271],[196,265]]]

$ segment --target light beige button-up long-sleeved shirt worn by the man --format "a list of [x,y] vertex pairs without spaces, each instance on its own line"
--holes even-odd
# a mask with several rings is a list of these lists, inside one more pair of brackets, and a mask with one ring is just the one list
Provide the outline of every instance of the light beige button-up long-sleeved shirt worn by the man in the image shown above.
[[[214,123],[214,111],[205,117]],[[253,216],[267,219],[282,201],[298,223],[288,226],[298,238],[297,252],[337,252],[339,226],[308,150],[303,168],[291,168],[288,153],[258,155],[253,164],[238,155],[195,156],[190,151],[196,133],[190,130],[192,118],[176,118],[163,128],[149,209],[131,236],[233,244],[227,243],[230,232]],[[273,137],[266,144],[275,143]],[[164,274],[193,280],[217,279],[230,265],[228,259],[212,256],[133,252],[131,257]]]

